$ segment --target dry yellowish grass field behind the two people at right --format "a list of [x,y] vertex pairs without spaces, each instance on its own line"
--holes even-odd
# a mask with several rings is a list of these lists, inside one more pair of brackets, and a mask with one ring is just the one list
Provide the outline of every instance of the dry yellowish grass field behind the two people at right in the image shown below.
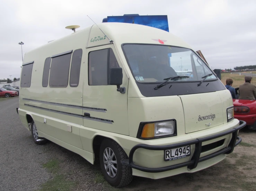
[[[248,72],[241,72],[241,73],[248,73]],[[250,72],[249,72],[250,73]],[[256,72],[254,72],[256,73]],[[228,72],[228,73],[221,73],[221,82],[226,85],[227,78],[231,78],[233,80],[233,88],[238,88],[241,84],[245,83],[245,76],[239,75],[239,72]],[[256,84],[256,77],[253,76],[252,83]]]

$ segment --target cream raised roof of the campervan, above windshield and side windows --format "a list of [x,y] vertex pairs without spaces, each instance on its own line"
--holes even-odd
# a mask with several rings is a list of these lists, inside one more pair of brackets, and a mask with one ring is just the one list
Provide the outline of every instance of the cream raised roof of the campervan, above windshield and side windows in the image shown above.
[[[123,43],[164,43],[164,45],[178,46],[191,49],[191,47],[182,39],[161,29],[144,26],[140,24],[115,22],[105,22],[99,23],[97,25],[110,40],[113,40],[115,44],[121,45]],[[109,40],[105,38],[103,32],[101,32],[98,27],[96,26],[96,24],[94,24],[88,28],[79,30],[77,32],[69,34],[68,36],[49,42],[34,50],[41,49],[43,47],[47,48],[52,46],[53,44],[68,42],[69,40],[72,42],[84,41],[86,47],[94,47],[103,44],[109,44]],[[30,52],[32,53],[34,50],[29,51],[26,54],[29,54]]]

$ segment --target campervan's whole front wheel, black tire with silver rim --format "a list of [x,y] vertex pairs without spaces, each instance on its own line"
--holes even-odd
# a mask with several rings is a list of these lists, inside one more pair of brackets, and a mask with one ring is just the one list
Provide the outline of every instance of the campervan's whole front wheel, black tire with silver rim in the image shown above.
[[[111,157],[114,153],[112,160],[107,160],[106,157],[104,157],[104,152],[106,156],[106,152],[109,152],[109,149],[111,149],[110,150]],[[107,156],[109,155],[107,154]],[[124,150],[122,149],[122,147],[117,142],[111,139],[104,139],[102,141],[100,145],[100,151],[99,151],[100,168],[104,175],[105,180],[113,187],[124,187],[130,184],[130,182],[132,181],[132,178],[133,178],[132,168],[125,166],[121,163],[121,160],[124,160],[124,159],[128,159],[128,157],[124,152]],[[115,168],[113,168],[113,166]],[[112,167],[113,171],[109,170],[110,167]],[[109,174],[109,171],[110,171],[110,174]]]

